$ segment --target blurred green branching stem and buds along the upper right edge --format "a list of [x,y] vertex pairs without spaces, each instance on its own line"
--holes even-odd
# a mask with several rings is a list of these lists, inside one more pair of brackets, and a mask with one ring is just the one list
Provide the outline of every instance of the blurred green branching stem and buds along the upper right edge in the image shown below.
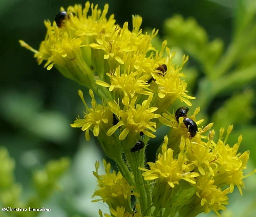
[[[254,117],[254,91],[244,89],[248,89],[256,78],[255,1],[239,1],[235,13],[232,40],[226,45],[224,53],[223,41],[214,39],[210,42],[206,31],[194,18],[184,19],[180,15],[174,15],[164,22],[165,38],[169,46],[180,48],[182,52],[190,54],[190,59],[196,60],[196,64],[187,69],[188,72],[193,69],[193,72],[200,76],[193,107],[201,106],[204,119],[223,123],[225,127],[230,121],[236,123],[236,127],[249,125]],[[204,76],[201,76],[200,72]],[[189,73],[188,75],[190,77]],[[238,94],[236,97],[232,97],[234,92]],[[216,98],[221,100],[219,104],[223,105],[223,108],[220,105],[211,107]],[[224,99],[227,102],[224,102]],[[208,114],[209,110],[211,112]],[[218,130],[219,127],[218,124],[215,129]]]

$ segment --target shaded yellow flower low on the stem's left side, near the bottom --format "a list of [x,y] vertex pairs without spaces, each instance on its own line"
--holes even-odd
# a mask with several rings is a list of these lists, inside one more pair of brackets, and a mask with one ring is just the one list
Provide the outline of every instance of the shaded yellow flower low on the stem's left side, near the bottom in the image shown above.
[[105,159],[103,159],[103,165],[106,174],[99,175],[98,170],[100,163],[99,161],[95,163],[96,172],[93,171],[93,174],[97,178],[99,189],[96,190],[92,196],[100,196],[102,199],[93,200],[92,202],[102,200],[108,204],[109,208],[115,209],[117,206],[124,206],[125,210],[132,212],[131,195],[136,197],[140,195],[136,192],[132,192],[134,186],[128,184],[120,171],[110,173],[110,163],[107,164]]

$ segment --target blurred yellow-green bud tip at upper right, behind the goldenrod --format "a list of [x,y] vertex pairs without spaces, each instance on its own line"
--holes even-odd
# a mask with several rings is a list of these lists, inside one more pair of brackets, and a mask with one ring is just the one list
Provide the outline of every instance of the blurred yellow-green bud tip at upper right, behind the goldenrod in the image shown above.
[[174,15],[165,20],[164,32],[169,46],[178,46],[186,53],[199,61],[205,73],[220,58],[223,50],[223,41],[215,39],[209,42],[209,37],[203,27],[199,26],[194,18],[183,19],[180,15]]

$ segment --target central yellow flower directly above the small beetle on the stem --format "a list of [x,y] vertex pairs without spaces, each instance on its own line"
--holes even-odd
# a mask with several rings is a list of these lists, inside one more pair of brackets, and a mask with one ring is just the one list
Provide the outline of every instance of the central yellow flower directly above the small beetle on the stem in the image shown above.
[[[154,114],[154,112],[157,110],[156,107],[150,107],[152,97],[153,94],[150,94],[148,99],[142,102],[142,105],[136,104],[136,106],[135,101],[137,97],[133,97],[129,105],[124,106],[123,110],[120,108],[118,103],[109,102],[108,105],[110,106],[111,111],[116,114],[119,122],[108,130],[107,135],[112,135],[119,127],[122,127],[122,132],[119,135],[119,139],[124,140],[129,134],[131,138],[126,138],[126,140],[131,143],[131,147],[129,147],[129,149],[132,148],[138,141],[136,141],[135,137],[139,136],[140,132],[143,132],[149,137],[156,137],[147,130],[149,129],[156,132],[156,123],[150,120],[159,118],[161,116],[159,114]],[[133,143],[133,140],[135,140],[135,143]]]

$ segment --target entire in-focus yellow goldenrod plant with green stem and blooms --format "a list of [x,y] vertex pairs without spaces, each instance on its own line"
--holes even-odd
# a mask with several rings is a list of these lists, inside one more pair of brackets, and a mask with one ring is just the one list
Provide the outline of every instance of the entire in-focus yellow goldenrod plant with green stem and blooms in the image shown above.
[[[196,120],[200,108],[177,121],[174,112],[169,112],[173,103],[180,100],[191,106],[189,100],[195,98],[187,95],[187,83],[182,80],[188,56],[183,56],[180,65],[173,64],[175,52],[166,47],[167,41],[160,51],[152,46],[158,31],[142,33],[140,16],[132,16],[130,31],[128,22],[121,27],[114,15],[107,18],[107,12],[108,4],[103,11],[89,2],[84,8],[69,6],[60,25],[44,22],[47,32],[38,51],[20,41],[35,53],[39,64],[46,61],[48,70],[55,66],[67,78],[90,88],[90,107],[78,91],[85,112],[71,127],[85,131],[86,140],[91,131],[120,170],[111,173],[110,164],[103,160],[106,174],[99,175],[96,162],[93,174],[99,188],[93,196],[101,199],[93,202],[108,204],[111,215],[105,217],[175,216],[177,212],[194,217],[210,210],[219,215],[218,210],[228,203],[227,194],[235,186],[242,194],[243,179],[256,172],[243,174],[249,151],[238,153],[242,136],[229,146],[229,126],[225,139],[221,128],[220,138],[214,142],[213,123],[201,127],[204,120]],[[198,126],[195,135],[191,136],[185,118]],[[171,129],[148,169],[145,148],[161,124]],[[137,212],[131,209],[131,196],[136,197]],[[99,214],[103,216],[101,211]]]

